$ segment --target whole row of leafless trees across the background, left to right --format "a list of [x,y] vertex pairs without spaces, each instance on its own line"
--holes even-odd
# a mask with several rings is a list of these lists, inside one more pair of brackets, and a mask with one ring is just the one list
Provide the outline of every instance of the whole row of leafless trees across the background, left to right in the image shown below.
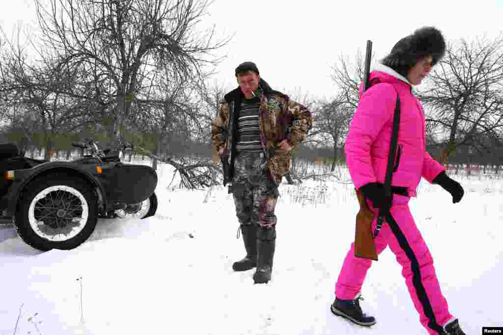
[[[44,4],[45,5],[45,4]],[[72,141],[129,141],[152,157],[211,157],[210,123],[225,93],[207,79],[228,43],[200,32],[199,0],[36,1],[30,48],[0,41],[0,135],[24,151],[52,154]],[[69,25],[68,22],[72,24]],[[35,57],[36,56],[36,57]],[[344,163],[358,105],[363,57],[341,55],[329,99],[292,98],[313,113],[296,159]],[[448,41],[446,56],[414,93],[423,101],[428,147],[444,164],[501,164],[503,36]],[[288,93],[288,92],[287,92]]]

